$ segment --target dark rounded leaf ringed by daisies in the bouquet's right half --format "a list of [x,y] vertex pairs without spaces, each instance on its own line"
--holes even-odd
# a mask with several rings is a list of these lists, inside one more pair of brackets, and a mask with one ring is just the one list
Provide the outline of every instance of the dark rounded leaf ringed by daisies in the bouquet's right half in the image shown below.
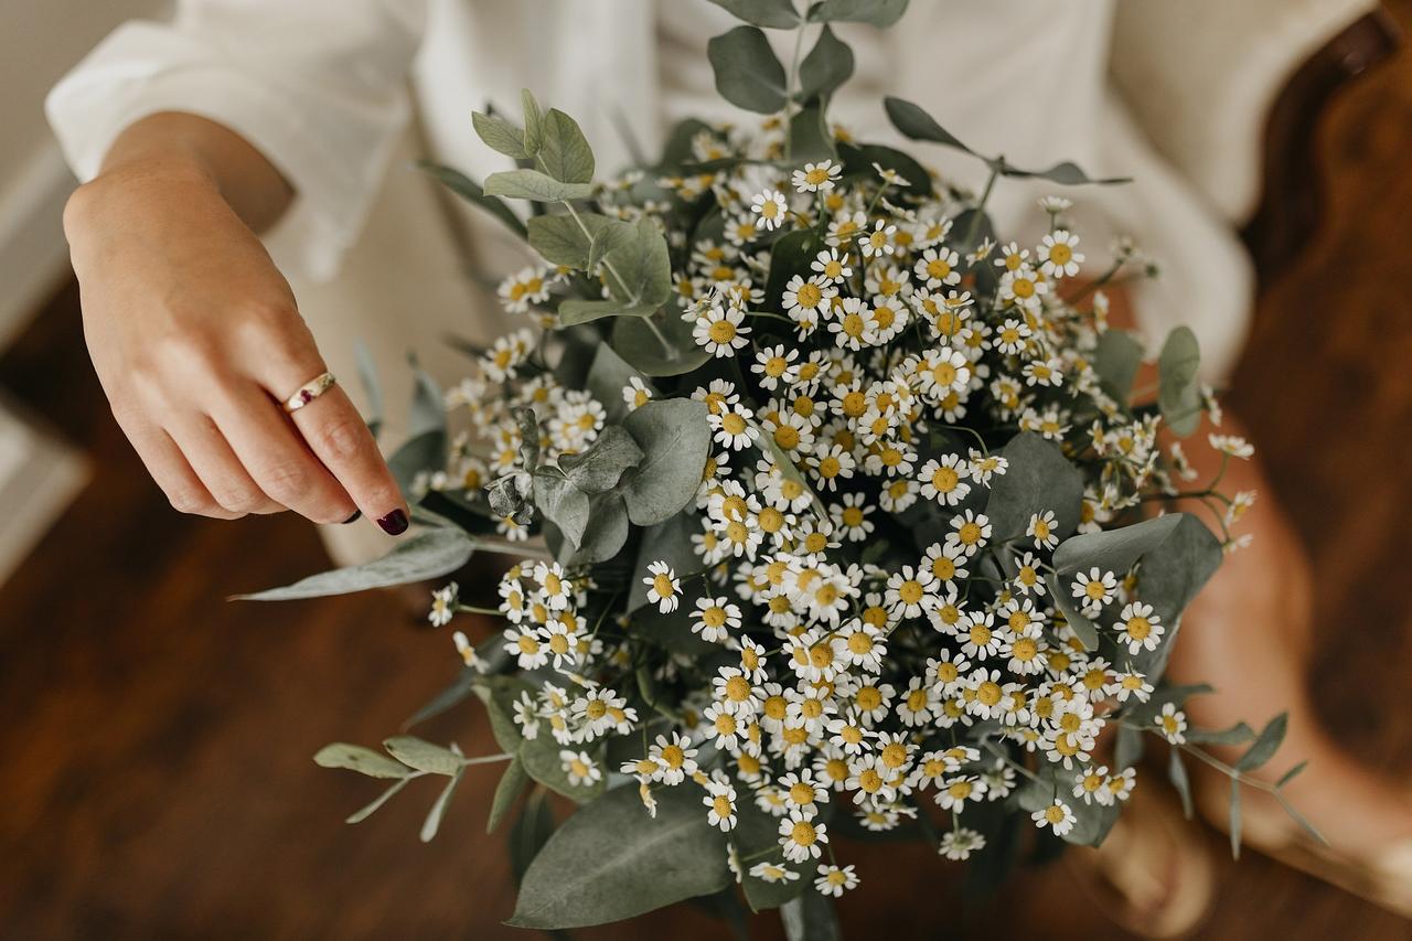
[[1011,438],[998,452],[1010,466],[993,476],[986,516],[995,541],[1024,537],[1029,517],[1053,510],[1053,531],[1066,538],[1079,526],[1083,475],[1063,456],[1059,445],[1032,431]]

